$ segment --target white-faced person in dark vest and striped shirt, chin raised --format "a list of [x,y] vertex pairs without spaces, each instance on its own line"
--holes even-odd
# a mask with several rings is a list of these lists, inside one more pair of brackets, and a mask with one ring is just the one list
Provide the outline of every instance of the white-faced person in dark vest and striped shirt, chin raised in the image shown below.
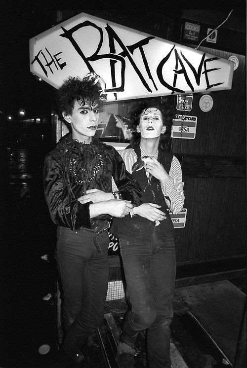
[[126,169],[144,192],[144,203],[130,211],[132,218],[116,220],[131,305],[118,345],[120,367],[126,359],[129,367],[134,364],[135,340],[143,330],[149,367],[171,364],[169,325],[176,264],[170,212],[177,214],[184,203],[181,166],[167,152],[172,117],[166,103],[141,102],[131,116],[131,146],[120,151]]

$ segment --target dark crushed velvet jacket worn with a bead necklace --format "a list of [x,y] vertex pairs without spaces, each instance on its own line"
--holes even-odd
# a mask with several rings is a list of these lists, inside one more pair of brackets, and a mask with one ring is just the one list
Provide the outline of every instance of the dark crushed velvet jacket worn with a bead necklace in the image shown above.
[[[77,199],[88,189],[112,191],[113,177],[123,199],[134,206],[142,201],[142,191],[137,181],[126,171],[117,150],[93,137],[90,144],[73,140],[67,134],[49,152],[44,161],[44,195],[52,221],[60,226],[78,230],[95,229],[95,222],[110,220],[108,214],[90,219],[89,204]],[[96,221],[95,221],[96,220]]]

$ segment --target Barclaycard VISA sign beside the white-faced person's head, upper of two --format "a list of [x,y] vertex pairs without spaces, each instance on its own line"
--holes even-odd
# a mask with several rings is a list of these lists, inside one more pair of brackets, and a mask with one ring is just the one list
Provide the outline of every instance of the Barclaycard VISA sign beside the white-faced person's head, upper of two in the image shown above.
[[176,114],[172,120],[171,138],[195,139],[197,116]]

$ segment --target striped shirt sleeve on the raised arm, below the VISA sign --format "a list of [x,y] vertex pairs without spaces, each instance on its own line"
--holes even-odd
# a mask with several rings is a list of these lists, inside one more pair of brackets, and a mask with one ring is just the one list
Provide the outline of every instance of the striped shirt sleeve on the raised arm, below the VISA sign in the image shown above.
[[164,196],[169,197],[169,200],[165,198],[167,206],[173,214],[177,214],[183,208],[184,192],[181,165],[175,156],[173,156],[171,161],[169,177],[170,180],[165,184],[165,186],[161,185],[161,188]]

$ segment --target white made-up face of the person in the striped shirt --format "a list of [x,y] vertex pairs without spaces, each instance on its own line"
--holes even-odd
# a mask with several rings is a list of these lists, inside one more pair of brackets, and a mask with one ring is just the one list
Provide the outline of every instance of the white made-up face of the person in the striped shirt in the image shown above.
[[142,138],[157,138],[165,133],[161,111],[156,108],[143,110],[136,131],[141,133]]

